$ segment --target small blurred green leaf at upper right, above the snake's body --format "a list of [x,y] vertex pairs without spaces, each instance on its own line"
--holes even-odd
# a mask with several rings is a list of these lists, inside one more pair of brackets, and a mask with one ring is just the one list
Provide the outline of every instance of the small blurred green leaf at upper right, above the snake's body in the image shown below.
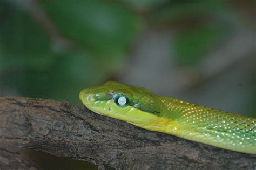
[[182,65],[197,65],[227,33],[226,28],[206,27],[182,32],[175,37],[174,51]]

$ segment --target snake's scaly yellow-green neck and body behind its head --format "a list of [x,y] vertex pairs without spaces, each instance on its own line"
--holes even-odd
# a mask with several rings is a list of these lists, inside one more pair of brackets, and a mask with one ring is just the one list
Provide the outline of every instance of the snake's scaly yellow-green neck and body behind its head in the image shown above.
[[160,132],[192,141],[256,154],[256,119],[187,103],[171,97],[159,97]]

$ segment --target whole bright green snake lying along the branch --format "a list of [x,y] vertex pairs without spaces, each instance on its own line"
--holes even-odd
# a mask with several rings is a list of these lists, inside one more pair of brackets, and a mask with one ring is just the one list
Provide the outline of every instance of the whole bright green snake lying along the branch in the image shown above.
[[[123,100],[119,102],[119,98]],[[142,87],[114,81],[82,90],[79,99],[93,112],[147,130],[256,154],[255,118],[157,96]]]

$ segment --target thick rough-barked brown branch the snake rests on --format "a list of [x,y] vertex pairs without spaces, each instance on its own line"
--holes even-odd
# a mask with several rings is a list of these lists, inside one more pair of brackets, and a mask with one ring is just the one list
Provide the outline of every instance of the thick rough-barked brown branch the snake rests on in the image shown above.
[[100,169],[255,169],[226,151],[103,117],[66,101],[0,97],[0,148],[31,148]]

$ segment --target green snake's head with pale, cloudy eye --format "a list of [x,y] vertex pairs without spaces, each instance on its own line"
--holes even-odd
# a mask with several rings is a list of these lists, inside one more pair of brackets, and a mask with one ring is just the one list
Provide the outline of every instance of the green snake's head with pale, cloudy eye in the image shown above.
[[160,114],[160,100],[156,94],[115,81],[84,89],[79,99],[93,112],[132,124],[149,124]]

